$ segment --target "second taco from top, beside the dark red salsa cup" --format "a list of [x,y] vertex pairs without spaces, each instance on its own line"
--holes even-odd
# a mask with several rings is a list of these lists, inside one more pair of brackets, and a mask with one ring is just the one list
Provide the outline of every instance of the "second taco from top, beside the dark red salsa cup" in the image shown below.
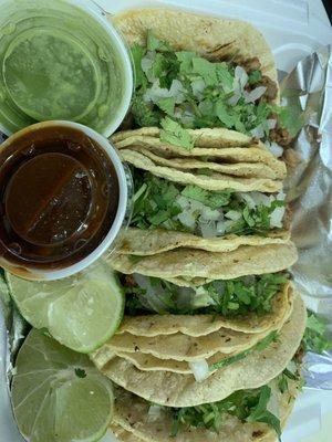
[[[148,143],[142,140],[142,145]],[[226,252],[289,239],[284,164],[263,148],[226,148],[225,154],[231,151],[227,155],[234,158],[236,151],[257,154],[257,162],[226,164],[218,161],[224,149],[195,148],[214,157],[167,158],[165,152],[154,152],[156,146],[121,149],[132,167],[135,194],[133,219],[120,253],[153,255],[177,248]]]

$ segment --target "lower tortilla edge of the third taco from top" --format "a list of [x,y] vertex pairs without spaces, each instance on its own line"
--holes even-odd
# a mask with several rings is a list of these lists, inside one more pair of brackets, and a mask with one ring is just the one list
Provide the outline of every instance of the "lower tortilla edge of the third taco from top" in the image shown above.
[[273,327],[278,328],[278,324],[291,308],[292,302],[293,285],[287,283],[282,291],[274,295],[271,312],[263,315],[248,312],[247,315],[234,318],[227,318],[218,314],[125,316],[116,334],[125,333],[134,336],[154,337],[180,333],[198,337],[209,335],[220,328],[260,334]]

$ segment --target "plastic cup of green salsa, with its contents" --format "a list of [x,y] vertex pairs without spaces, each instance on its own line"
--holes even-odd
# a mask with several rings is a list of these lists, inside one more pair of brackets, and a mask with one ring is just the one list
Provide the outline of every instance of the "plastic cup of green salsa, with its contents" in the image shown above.
[[91,0],[0,0],[0,130],[69,119],[112,135],[131,104],[133,69],[103,10]]

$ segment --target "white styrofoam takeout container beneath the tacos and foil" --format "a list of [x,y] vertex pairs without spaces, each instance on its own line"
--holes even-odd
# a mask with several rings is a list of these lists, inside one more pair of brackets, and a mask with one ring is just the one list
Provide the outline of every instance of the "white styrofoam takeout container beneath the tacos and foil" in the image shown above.
[[[321,0],[95,0],[105,11],[117,13],[131,8],[173,6],[216,17],[246,20],[264,35],[277,60],[278,69],[290,72],[298,61],[321,45],[332,43],[332,28]],[[12,420],[6,387],[3,346],[4,325],[0,317],[0,441],[22,442]],[[305,392],[282,436],[283,442],[301,442],[320,430],[321,419],[332,412],[332,392]],[[102,442],[114,442],[111,433]],[[48,441],[45,441],[48,442]],[[319,441],[318,441],[319,442]]]

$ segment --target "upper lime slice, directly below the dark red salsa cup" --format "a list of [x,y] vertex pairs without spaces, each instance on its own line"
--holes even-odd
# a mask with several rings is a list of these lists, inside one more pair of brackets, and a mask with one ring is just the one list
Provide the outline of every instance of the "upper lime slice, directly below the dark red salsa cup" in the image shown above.
[[110,339],[123,317],[124,294],[106,263],[60,281],[25,281],[7,273],[10,293],[22,316],[48,328],[61,344],[91,352]]

